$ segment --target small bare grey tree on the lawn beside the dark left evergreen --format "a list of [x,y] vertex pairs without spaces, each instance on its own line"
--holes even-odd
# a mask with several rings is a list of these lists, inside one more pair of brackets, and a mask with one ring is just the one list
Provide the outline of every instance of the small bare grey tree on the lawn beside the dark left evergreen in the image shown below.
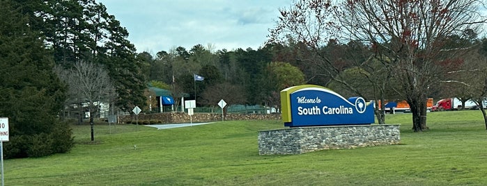
[[80,105],[87,104],[90,113],[91,141],[94,138],[94,118],[101,103],[111,103],[115,100],[114,86],[107,70],[92,62],[75,62],[71,69],[61,71],[61,78],[68,84],[70,99]]

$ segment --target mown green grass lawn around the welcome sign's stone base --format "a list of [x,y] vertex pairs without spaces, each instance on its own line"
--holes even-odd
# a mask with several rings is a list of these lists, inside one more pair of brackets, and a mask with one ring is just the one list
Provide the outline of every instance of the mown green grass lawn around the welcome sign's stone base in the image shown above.
[[[401,144],[258,155],[259,130],[281,121],[224,121],[156,130],[146,126],[73,126],[76,146],[46,158],[5,160],[6,185],[487,185],[487,132],[479,110],[428,113]],[[137,149],[134,149],[137,145]]]

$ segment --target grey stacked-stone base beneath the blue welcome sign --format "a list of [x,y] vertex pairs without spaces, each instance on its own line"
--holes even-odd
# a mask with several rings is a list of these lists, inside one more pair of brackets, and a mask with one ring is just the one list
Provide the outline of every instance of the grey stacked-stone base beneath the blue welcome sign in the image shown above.
[[301,154],[324,149],[399,144],[399,124],[316,126],[265,130],[258,134],[260,155]]

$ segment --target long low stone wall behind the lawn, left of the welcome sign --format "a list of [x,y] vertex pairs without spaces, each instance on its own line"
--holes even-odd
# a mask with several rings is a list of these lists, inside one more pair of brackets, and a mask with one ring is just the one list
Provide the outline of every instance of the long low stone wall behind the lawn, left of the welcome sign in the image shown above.
[[[139,124],[181,124],[193,122],[222,121],[222,114],[194,113],[192,117],[185,112],[164,112],[155,114],[140,114]],[[258,115],[258,114],[227,114],[225,120],[279,120],[280,114]],[[121,123],[135,123],[135,115],[123,115],[119,117]]]

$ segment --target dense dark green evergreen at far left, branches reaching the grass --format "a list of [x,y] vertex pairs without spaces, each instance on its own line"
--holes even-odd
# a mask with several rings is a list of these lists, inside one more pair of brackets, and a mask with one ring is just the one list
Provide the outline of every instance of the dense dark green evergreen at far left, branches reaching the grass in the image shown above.
[[9,118],[5,158],[66,153],[74,145],[61,121],[66,87],[52,71],[54,62],[29,14],[15,1],[0,0],[0,115]]

